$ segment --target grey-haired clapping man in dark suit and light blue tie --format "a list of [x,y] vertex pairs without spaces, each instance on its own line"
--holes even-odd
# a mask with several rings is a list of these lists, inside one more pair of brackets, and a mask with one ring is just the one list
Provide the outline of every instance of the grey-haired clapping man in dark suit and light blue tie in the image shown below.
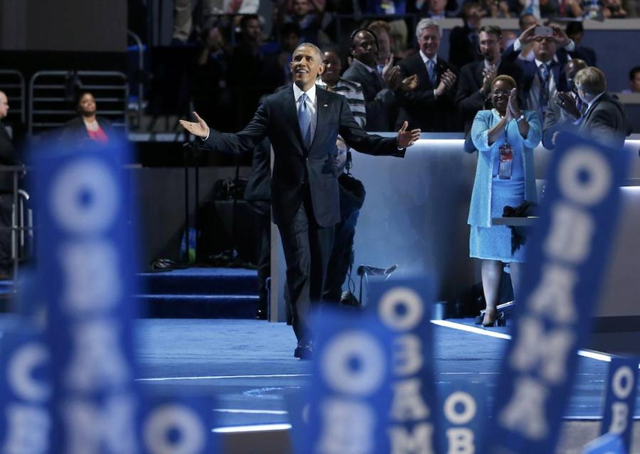
[[400,62],[404,75],[416,74],[418,87],[399,93],[412,128],[423,131],[461,130],[456,113],[456,79],[458,70],[438,57],[442,29],[432,19],[422,19],[415,29],[420,51]]

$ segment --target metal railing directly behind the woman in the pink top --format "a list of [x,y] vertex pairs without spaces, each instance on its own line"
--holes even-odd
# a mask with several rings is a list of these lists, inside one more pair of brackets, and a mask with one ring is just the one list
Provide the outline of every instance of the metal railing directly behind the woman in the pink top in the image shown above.
[[61,127],[76,115],[74,90],[91,91],[97,115],[128,131],[127,76],[117,71],[38,71],[29,81],[28,133]]

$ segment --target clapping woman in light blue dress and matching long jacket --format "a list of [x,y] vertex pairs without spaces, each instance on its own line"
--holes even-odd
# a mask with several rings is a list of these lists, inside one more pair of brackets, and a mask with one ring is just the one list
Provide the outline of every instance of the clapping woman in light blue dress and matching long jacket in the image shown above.
[[502,263],[510,263],[513,293],[517,295],[524,247],[511,253],[511,229],[493,226],[492,217],[502,217],[507,205],[517,207],[536,201],[533,148],[541,139],[541,125],[534,111],[520,111],[516,82],[508,75],[493,79],[494,108],[479,111],[471,127],[478,150],[476,180],[471,195],[468,224],[470,256],[481,260],[486,313],[483,326],[497,317]]

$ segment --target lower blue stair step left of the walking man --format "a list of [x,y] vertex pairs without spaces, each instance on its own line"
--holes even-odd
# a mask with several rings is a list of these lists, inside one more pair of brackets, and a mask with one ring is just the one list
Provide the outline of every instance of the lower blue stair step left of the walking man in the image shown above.
[[143,316],[152,318],[253,318],[257,295],[140,294]]

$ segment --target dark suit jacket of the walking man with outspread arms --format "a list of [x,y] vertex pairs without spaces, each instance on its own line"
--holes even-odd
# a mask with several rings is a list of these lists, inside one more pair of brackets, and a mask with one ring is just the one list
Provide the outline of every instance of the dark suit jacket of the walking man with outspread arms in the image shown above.
[[253,120],[237,134],[211,130],[205,141],[213,150],[242,153],[269,137],[275,159],[271,206],[276,224],[291,222],[307,185],[316,222],[326,227],[340,221],[338,179],[332,166],[338,134],[359,152],[404,156],[404,150],[397,150],[395,137],[369,135],[360,128],[346,98],[326,90],[316,90],[316,97],[316,134],[308,150],[300,134],[292,87],[264,98]]

